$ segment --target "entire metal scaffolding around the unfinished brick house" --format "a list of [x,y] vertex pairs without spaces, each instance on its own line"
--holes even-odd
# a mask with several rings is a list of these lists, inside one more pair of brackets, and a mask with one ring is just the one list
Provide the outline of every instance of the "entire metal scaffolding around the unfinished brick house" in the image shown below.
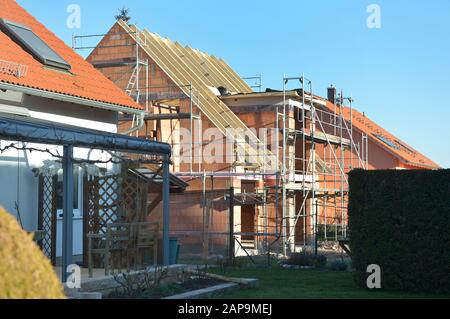
[[[85,36],[73,36],[73,49],[74,50],[87,50],[87,49],[111,49],[119,48],[123,46],[135,46],[135,59],[131,61],[105,61],[104,67],[108,66],[133,66],[133,71],[128,79],[128,85],[125,88],[125,92],[134,97],[140,104],[145,103],[146,112],[150,117],[150,107],[156,108],[170,108],[171,102],[168,101],[167,96],[155,97],[151,96],[153,90],[168,90],[170,93],[171,86],[151,86],[149,85],[150,71],[149,60],[141,59],[140,50],[143,50],[143,46],[146,45],[146,35],[144,31],[141,31],[137,26],[134,26],[135,31],[115,33],[115,35],[127,34],[133,35],[132,39],[136,39],[135,43],[113,46],[83,46],[79,45],[79,42],[83,42],[85,38],[104,37],[107,34],[85,35]],[[145,50],[143,50],[145,52]],[[102,65],[97,65],[101,68]],[[144,70],[142,70],[144,69]],[[141,73],[145,73],[145,83],[142,85],[140,78]],[[124,76],[128,75],[125,72]],[[255,80],[256,83],[252,88],[259,88],[262,90],[262,75],[254,77],[242,78],[243,80]],[[287,86],[290,82],[299,81],[301,84],[301,106],[291,105],[287,99]],[[175,85],[176,89],[180,89],[179,85]],[[346,154],[350,154],[350,166],[353,168],[359,167],[366,169],[369,163],[369,151],[368,151],[368,136],[362,133],[361,144],[356,144],[354,140],[353,121],[352,116],[350,120],[344,119],[342,113],[342,107],[344,101],[350,104],[350,113],[352,112],[353,99],[345,98],[341,92],[338,99],[334,102],[334,113],[326,111],[318,106],[319,100],[314,96],[313,82],[305,77],[303,74],[299,77],[283,77],[283,104],[276,106],[276,124],[275,130],[277,135],[281,135],[281,138],[277,136],[275,139],[276,145],[276,167],[277,171],[268,171],[266,163],[268,162],[264,157],[269,155],[267,136],[264,136],[264,151],[262,154],[258,154],[259,157],[263,157],[264,165],[255,168],[253,171],[238,169],[237,166],[230,165],[229,171],[223,172],[207,172],[202,170],[203,166],[203,150],[205,142],[203,138],[195,140],[194,126],[197,123],[199,130],[202,128],[202,114],[194,114],[194,106],[199,106],[198,91],[192,83],[183,84],[183,88],[187,88],[189,94],[185,94],[184,90],[181,90],[183,96],[179,96],[178,99],[189,100],[189,112],[184,118],[179,120],[189,120],[189,127],[191,138],[188,141],[190,149],[190,165],[188,172],[176,172],[178,177],[185,177],[191,179],[201,179],[203,189],[203,210],[206,214],[206,203],[209,199],[206,198],[206,179],[208,177],[214,179],[214,177],[224,178],[248,178],[248,179],[261,179],[264,182],[264,187],[258,189],[255,193],[241,193],[244,197],[257,199],[256,202],[259,206],[262,206],[262,216],[258,218],[261,224],[255,225],[254,233],[233,232],[233,236],[236,240],[237,236],[252,235],[255,240],[260,237],[264,238],[263,247],[269,251],[273,243],[281,240],[282,254],[287,256],[289,252],[296,251],[296,228],[299,220],[303,222],[303,248],[308,246],[313,247],[317,251],[318,235],[320,220],[324,220],[324,240],[328,238],[328,228],[331,227],[330,220],[332,220],[332,226],[335,230],[334,239],[339,239],[338,228],[340,227],[340,237],[347,237],[347,193],[348,193],[348,180],[346,178],[346,163],[348,158]],[[141,92],[144,92],[142,94]],[[135,92],[135,94],[133,94]],[[197,93],[196,93],[197,92]],[[144,97],[142,97],[144,95]],[[196,98],[197,96],[197,98]],[[280,110],[282,108],[282,110]],[[290,115],[290,114],[293,115]],[[174,116],[164,114],[159,116],[159,120],[174,120]],[[137,121],[136,117],[132,120],[132,127]],[[196,122],[197,121],[197,122]],[[281,123],[281,125],[280,125]],[[294,126],[291,127],[291,124]],[[296,129],[299,126],[299,129]],[[328,128],[328,131],[326,130]],[[329,132],[331,128],[331,132]],[[138,134],[138,133],[137,133]],[[242,141],[241,143],[246,143]],[[293,147],[290,145],[293,143]],[[297,145],[300,143],[300,150],[302,158],[298,158]],[[175,143],[176,144],[176,143]],[[174,145],[175,145],[174,144]],[[322,157],[316,154],[318,144],[325,145]],[[183,144],[177,143],[177,146]],[[200,154],[194,154],[195,148],[198,148]],[[336,148],[336,150],[335,150]],[[271,147],[273,150],[273,145]],[[306,154],[309,152],[309,156]],[[356,154],[356,157],[354,156]],[[180,154],[181,155],[181,154]],[[233,155],[235,156],[235,155]],[[198,160],[195,158],[198,157]],[[354,158],[355,157],[355,158]],[[237,159],[236,159],[237,161]],[[356,161],[356,166],[354,162]],[[194,164],[198,164],[196,170]],[[325,167],[325,171],[318,170],[317,167]],[[328,170],[327,170],[328,169]],[[266,178],[272,178],[276,180],[275,186],[267,186]],[[333,187],[320,187],[320,179],[324,178],[325,186],[327,186],[332,179],[331,184]],[[319,184],[319,185],[318,185]],[[274,193],[271,193],[274,190]],[[302,198],[301,205],[297,205],[296,196],[300,195]],[[235,196],[233,196],[235,198]],[[229,200],[225,196],[224,200]],[[237,201],[234,199],[233,201]],[[275,204],[275,225],[269,225],[269,217],[267,205],[269,203]],[[236,202],[236,205],[239,205]],[[257,206],[255,206],[256,208]],[[319,214],[319,208],[323,213]],[[329,209],[334,210],[334,217],[328,216]],[[281,216],[280,212],[281,210]],[[338,218],[340,215],[340,218]],[[205,217],[206,220],[206,217]],[[308,229],[308,224],[310,228]],[[231,225],[230,225],[231,226]],[[237,225],[233,225],[236,227]],[[262,231],[260,231],[262,229]],[[311,238],[308,238],[308,234],[311,234]],[[210,235],[214,235],[213,232]],[[223,235],[223,234],[220,234]],[[205,235],[205,238],[208,236]],[[270,237],[275,237],[276,240],[273,243],[269,242]],[[240,242],[239,242],[240,243]],[[240,245],[242,247],[242,245]],[[255,244],[256,246],[256,244]],[[242,247],[243,248],[243,247]]]

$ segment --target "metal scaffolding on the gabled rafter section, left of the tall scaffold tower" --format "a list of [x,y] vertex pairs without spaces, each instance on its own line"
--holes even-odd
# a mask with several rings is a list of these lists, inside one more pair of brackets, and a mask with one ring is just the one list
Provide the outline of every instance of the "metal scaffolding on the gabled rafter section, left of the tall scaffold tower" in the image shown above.
[[[150,76],[150,72],[149,72],[149,62],[148,60],[145,61],[145,63],[142,62],[142,59],[139,56],[139,52],[140,49],[142,49],[144,52],[145,50],[143,49],[143,46],[146,45],[146,35],[144,31],[141,31],[136,25],[133,26],[133,29],[135,31],[129,31],[129,32],[116,32],[114,33],[114,35],[133,35],[137,41],[135,41],[135,44],[120,44],[120,45],[106,45],[106,46],[102,46],[102,45],[97,45],[97,46],[84,46],[82,44],[84,39],[92,39],[92,38],[103,38],[108,34],[93,34],[93,35],[73,35],[73,39],[72,39],[72,47],[74,50],[92,50],[92,49],[97,49],[97,50],[102,50],[102,49],[112,49],[112,48],[121,48],[121,47],[130,47],[130,46],[135,46],[135,60],[133,61],[101,61],[100,63],[96,63],[94,66],[97,68],[102,68],[102,67],[122,67],[122,66],[133,66],[133,71],[131,73],[131,76],[129,78],[128,84],[126,86],[126,88],[124,89],[124,91],[127,93],[127,95],[133,97],[137,103],[142,104],[142,102],[145,102],[145,106],[146,106],[146,112],[149,114],[149,107],[156,107],[156,108],[168,108],[170,109],[172,107],[172,103],[168,100],[170,100],[169,95],[164,96],[164,94],[162,94],[163,96],[161,97],[155,97],[155,96],[151,96],[151,92],[153,90],[157,90],[159,92],[164,91],[164,92],[168,92],[170,93],[172,88],[175,88],[176,91],[179,91],[177,89],[180,89],[179,85],[175,85],[175,86],[171,86],[171,85],[161,85],[161,86],[152,86],[149,85],[149,76]],[[81,44],[80,44],[81,42]],[[145,67],[145,84],[141,85],[140,84],[140,77],[141,77],[141,73],[142,71],[142,67]],[[124,72],[120,73],[123,76],[126,76],[129,74],[129,70],[126,70]],[[122,77],[119,78],[119,81],[122,80]],[[248,78],[248,80],[255,80],[255,86],[257,85],[257,87],[260,89],[262,89],[262,75],[257,75],[255,77],[251,77]],[[254,86],[254,88],[255,88]],[[189,93],[187,96],[186,94],[183,93],[183,91],[181,91],[181,94],[183,96],[178,96],[177,99],[188,99],[189,100],[189,112],[188,112],[188,119],[189,119],[189,127],[190,127],[190,131],[193,133],[194,132],[194,126],[195,126],[195,121],[197,121],[198,123],[198,127],[197,130],[202,131],[202,114],[194,114],[193,108],[194,106],[199,106],[199,98],[198,98],[198,94],[200,94],[198,92],[198,90],[196,90],[196,88],[194,87],[194,85],[192,83],[187,83],[187,84],[183,84],[182,85],[183,88],[187,88],[189,90]],[[141,94],[142,91],[145,91],[145,94]],[[135,93],[134,93],[135,92]],[[196,93],[197,92],[197,93]],[[151,105],[150,105],[150,101],[151,101]],[[148,117],[150,117],[151,115],[148,115]],[[164,117],[161,116],[160,118],[161,120],[172,120],[173,118],[171,117]],[[133,117],[133,124],[132,126],[135,125],[135,121],[136,118]],[[267,138],[265,136],[265,138]],[[241,143],[245,143],[245,141],[242,141]],[[265,148],[267,149],[267,141],[264,140],[264,145]],[[173,144],[174,146],[175,144]],[[270,177],[270,176],[276,176],[275,178],[278,180],[278,172],[275,173],[269,173],[266,172],[266,167],[265,165],[263,165],[262,169],[259,169],[258,172],[240,172],[238,171],[239,165],[235,165],[237,162],[237,153],[235,152],[232,156],[235,160],[235,164],[230,165],[230,169],[229,171],[224,171],[224,172],[206,172],[205,170],[202,170],[202,166],[203,166],[203,146],[205,145],[205,142],[202,140],[202,137],[200,136],[199,140],[195,140],[195,136],[194,134],[191,134],[191,139],[189,141],[189,149],[190,149],[190,168],[189,168],[189,172],[176,172],[175,175],[178,177],[188,177],[191,179],[201,179],[202,180],[202,193],[203,193],[203,214],[204,214],[204,218],[206,219],[206,207],[208,206],[207,203],[210,201],[209,199],[207,199],[206,196],[206,179],[207,178],[211,178],[214,179],[214,177],[225,177],[225,178],[240,178],[240,177],[248,177],[248,178],[256,178],[256,177]],[[182,143],[178,143],[176,146],[183,146]],[[199,154],[195,154],[195,148],[198,148]],[[235,149],[236,149],[236,145],[235,145]],[[181,155],[181,154],[180,154]],[[267,154],[264,152],[264,154],[262,155],[262,157],[265,157]],[[260,156],[260,154],[258,154],[258,156]],[[198,159],[196,159],[198,158]],[[264,160],[264,163],[266,163],[266,161]],[[198,164],[198,169],[196,170],[194,168],[194,164]],[[196,166],[196,165],[195,165]],[[224,190],[225,191],[225,190]],[[279,227],[278,227],[278,205],[276,205],[276,220],[277,220],[277,224],[275,225],[275,232],[271,232],[269,230],[269,226],[268,226],[268,221],[267,221],[267,197],[268,197],[268,191],[269,188],[265,187],[262,192],[257,192],[254,194],[250,194],[250,193],[244,193],[244,194],[236,194],[236,195],[242,195],[242,196],[247,196],[247,197],[261,197],[263,198],[263,200],[261,200],[261,205],[263,206],[263,215],[264,215],[264,220],[263,221],[263,232],[255,232],[255,233],[243,233],[243,232],[233,232],[233,235],[235,236],[235,240],[239,243],[239,246],[245,250],[245,248],[243,247],[243,245],[241,244],[240,240],[237,238],[238,236],[243,236],[243,235],[254,235],[255,238],[264,238],[264,246],[268,247],[269,246],[269,240],[268,238],[270,236],[278,236],[279,233]],[[229,200],[229,198],[227,198],[227,196],[224,197],[224,200]],[[274,200],[276,202],[278,202],[278,197]],[[235,205],[239,204],[238,200],[235,200]],[[239,226],[237,224],[234,225],[234,227]],[[255,225],[259,228],[260,225]],[[224,234],[228,235],[228,233],[214,233],[214,232],[208,232],[208,234],[203,234],[203,236],[205,238],[208,238],[210,236],[215,236],[215,235],[219,235],[219,236],[223,236]]]

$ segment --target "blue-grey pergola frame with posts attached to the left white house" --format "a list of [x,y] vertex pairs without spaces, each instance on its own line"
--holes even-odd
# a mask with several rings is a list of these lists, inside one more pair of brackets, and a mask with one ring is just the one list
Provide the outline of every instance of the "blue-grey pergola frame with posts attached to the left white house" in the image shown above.
[[[134,156],[141,156],[144,159],[142,162],[150,163],[152,165],[157,165],[159,167],[158,172],[155,172],[153,177],[157,179],[159,185],[159,191],[161,192],[161,201],[163,204],[163,222],[162,228],[162,264],[169,265],[169,218],[170,218],[170,157],[171,148],[170,145],[165,143],[159,143],[154,141],[148,141],[144,139],[139,139],[130,136],[124,136],[120,134],[107,133],[92,129],[86,129],[81,127],[75,127],[66,124],[54,123],[45,120],[39,120],[35,118],[22,117],[16,115],[0,115],[0,136],[4,140],[19,141],[23,143],[33,143],[41,145],[42,148],[33,147],[33,151],[37,152],[49,152],[46,149],[46,145],[62,146],[63,155],[58,155],[58,160],[60,160],[63,170],[62,178],[62,258],[61,258],[61,269],[60,274],[62,282],[66,282],[70,273],[67,272],[68,267],[73,264],[73,227],[74,227],[74,167],[75,164],[79,163],[91,163],[89,159],[79,159],[74,158],[74,148],[88,149],[88,150],[102,150],[106,152],[111,152],[112,162],[114,162],[114,154],[125,153],[132,154]],[[26,146],[24,146],[25,149]],[[31,148],[30,148],[31,149]],[[56,156],[52,154],[53,156]],[[117,156],[116,156],[117,157]],[[115,164],[121,164],[116,163]],[[131,185],[132,187],[132,185]],[[125,191],[123,192],[125,193]],[[134,193],[133,193],[134,194]],[[116,201],[120,201],[123,198],[116,198]],[[54,200],[49,201],[54,203]],[[43,201],[40,200],[40,205]],[[131,220],[127,220],[129,214],[115,214],[114,216],[108,215],[110,218],[104,220],[99,216],[99,210],[108,209],[108,205],[111,201],[103,202],[98,205],[98,209],[94,209],[94,214],[92,215],[94,219],[90,219],[90,226],[93,227],[88,232],[91,235],[97,236],[114,236],[112,232],[109,232],[107,228],[111,223],[120,221],[125,223],[133,222],[143,222],[142,217],[132,216]],[[54,205],[53,205],[54,206]],[[139,209],[135,211],[140,211]],[[141,210],[142,211],[142,210]],[[51,209],[51,219],[56,219],[56,213],[54,209]],[[122,219],[118,219],[120,217]],[[83,216],[84,221],[86,221],[85,216]],[[40,223],[42,220],[40,221]],[[93,229],[95,231],[93,231]],[[45,229],[39,229],[38,231],[46,231]],[[56,234],[48,233],[48,238],[52,241],[56,240]],[[118,247],[114,247],[118,242],[124,242],[124,238],[121,238],[118,233],[114,238],[110,240],[103,240],[103,243],[110,247],[106,247],[105,253],[108,254],[108,250],[117,252]],[[138,235],[139,236],[139,235]],[[106,238],[102,237],[102,238]],[[129,239],[129,238],[128,238]],[[145,238],[137,238],[138,240],[143,240]],[[148,239],[148,238],[147,238]],[[155,239],[153,239],[153,242]],[[41,241],[42,244],[42,241]],[[149,244],[149,243],[147,243]],[[139,245],[144,245],[143,247]],[[100,245],[102,246],[102,245]],[[97,248],[97,247],[96,247]],[[137,243],[133,248],[149,248],[145,246],[145,243]],[[123,251],[124,247],[120,247]],[[56,251],[56,249],[54,250]],[[85,250],[86,251],[86,250]],[[54,252],[53,252],[54,254]],[[103,271],[104,272],[104,271]],[[93,273],[98,273],[98,270],[94,270]]]

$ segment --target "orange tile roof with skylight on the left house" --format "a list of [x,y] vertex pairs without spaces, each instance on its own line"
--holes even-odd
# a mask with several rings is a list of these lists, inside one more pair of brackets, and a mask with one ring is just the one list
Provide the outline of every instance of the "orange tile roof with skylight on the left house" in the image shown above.
[[[26,25],[67,61],[70,73],[45,67],[8,35],[0,31],[0,60],[28,68],[25,76],[1,72],[0,82],[74,96],[91,101],[142,109],[129,96],[45,28],[14,0],[0,0],[0,18]],[[0,61],[1,62],[1,61]],[[9,73],[9,74],[8,74]]]

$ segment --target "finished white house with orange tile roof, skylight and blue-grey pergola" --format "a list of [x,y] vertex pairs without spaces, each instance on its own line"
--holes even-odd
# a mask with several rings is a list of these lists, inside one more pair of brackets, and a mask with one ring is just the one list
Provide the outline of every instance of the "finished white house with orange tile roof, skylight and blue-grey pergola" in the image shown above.
[[143,108],[13,0],[0,0],[0,48],[0,205],[55,265],[85,265],[88,234],[145,215],[149,179],[127,163],[151,162],[168,203],[171,148],[117,134]]

